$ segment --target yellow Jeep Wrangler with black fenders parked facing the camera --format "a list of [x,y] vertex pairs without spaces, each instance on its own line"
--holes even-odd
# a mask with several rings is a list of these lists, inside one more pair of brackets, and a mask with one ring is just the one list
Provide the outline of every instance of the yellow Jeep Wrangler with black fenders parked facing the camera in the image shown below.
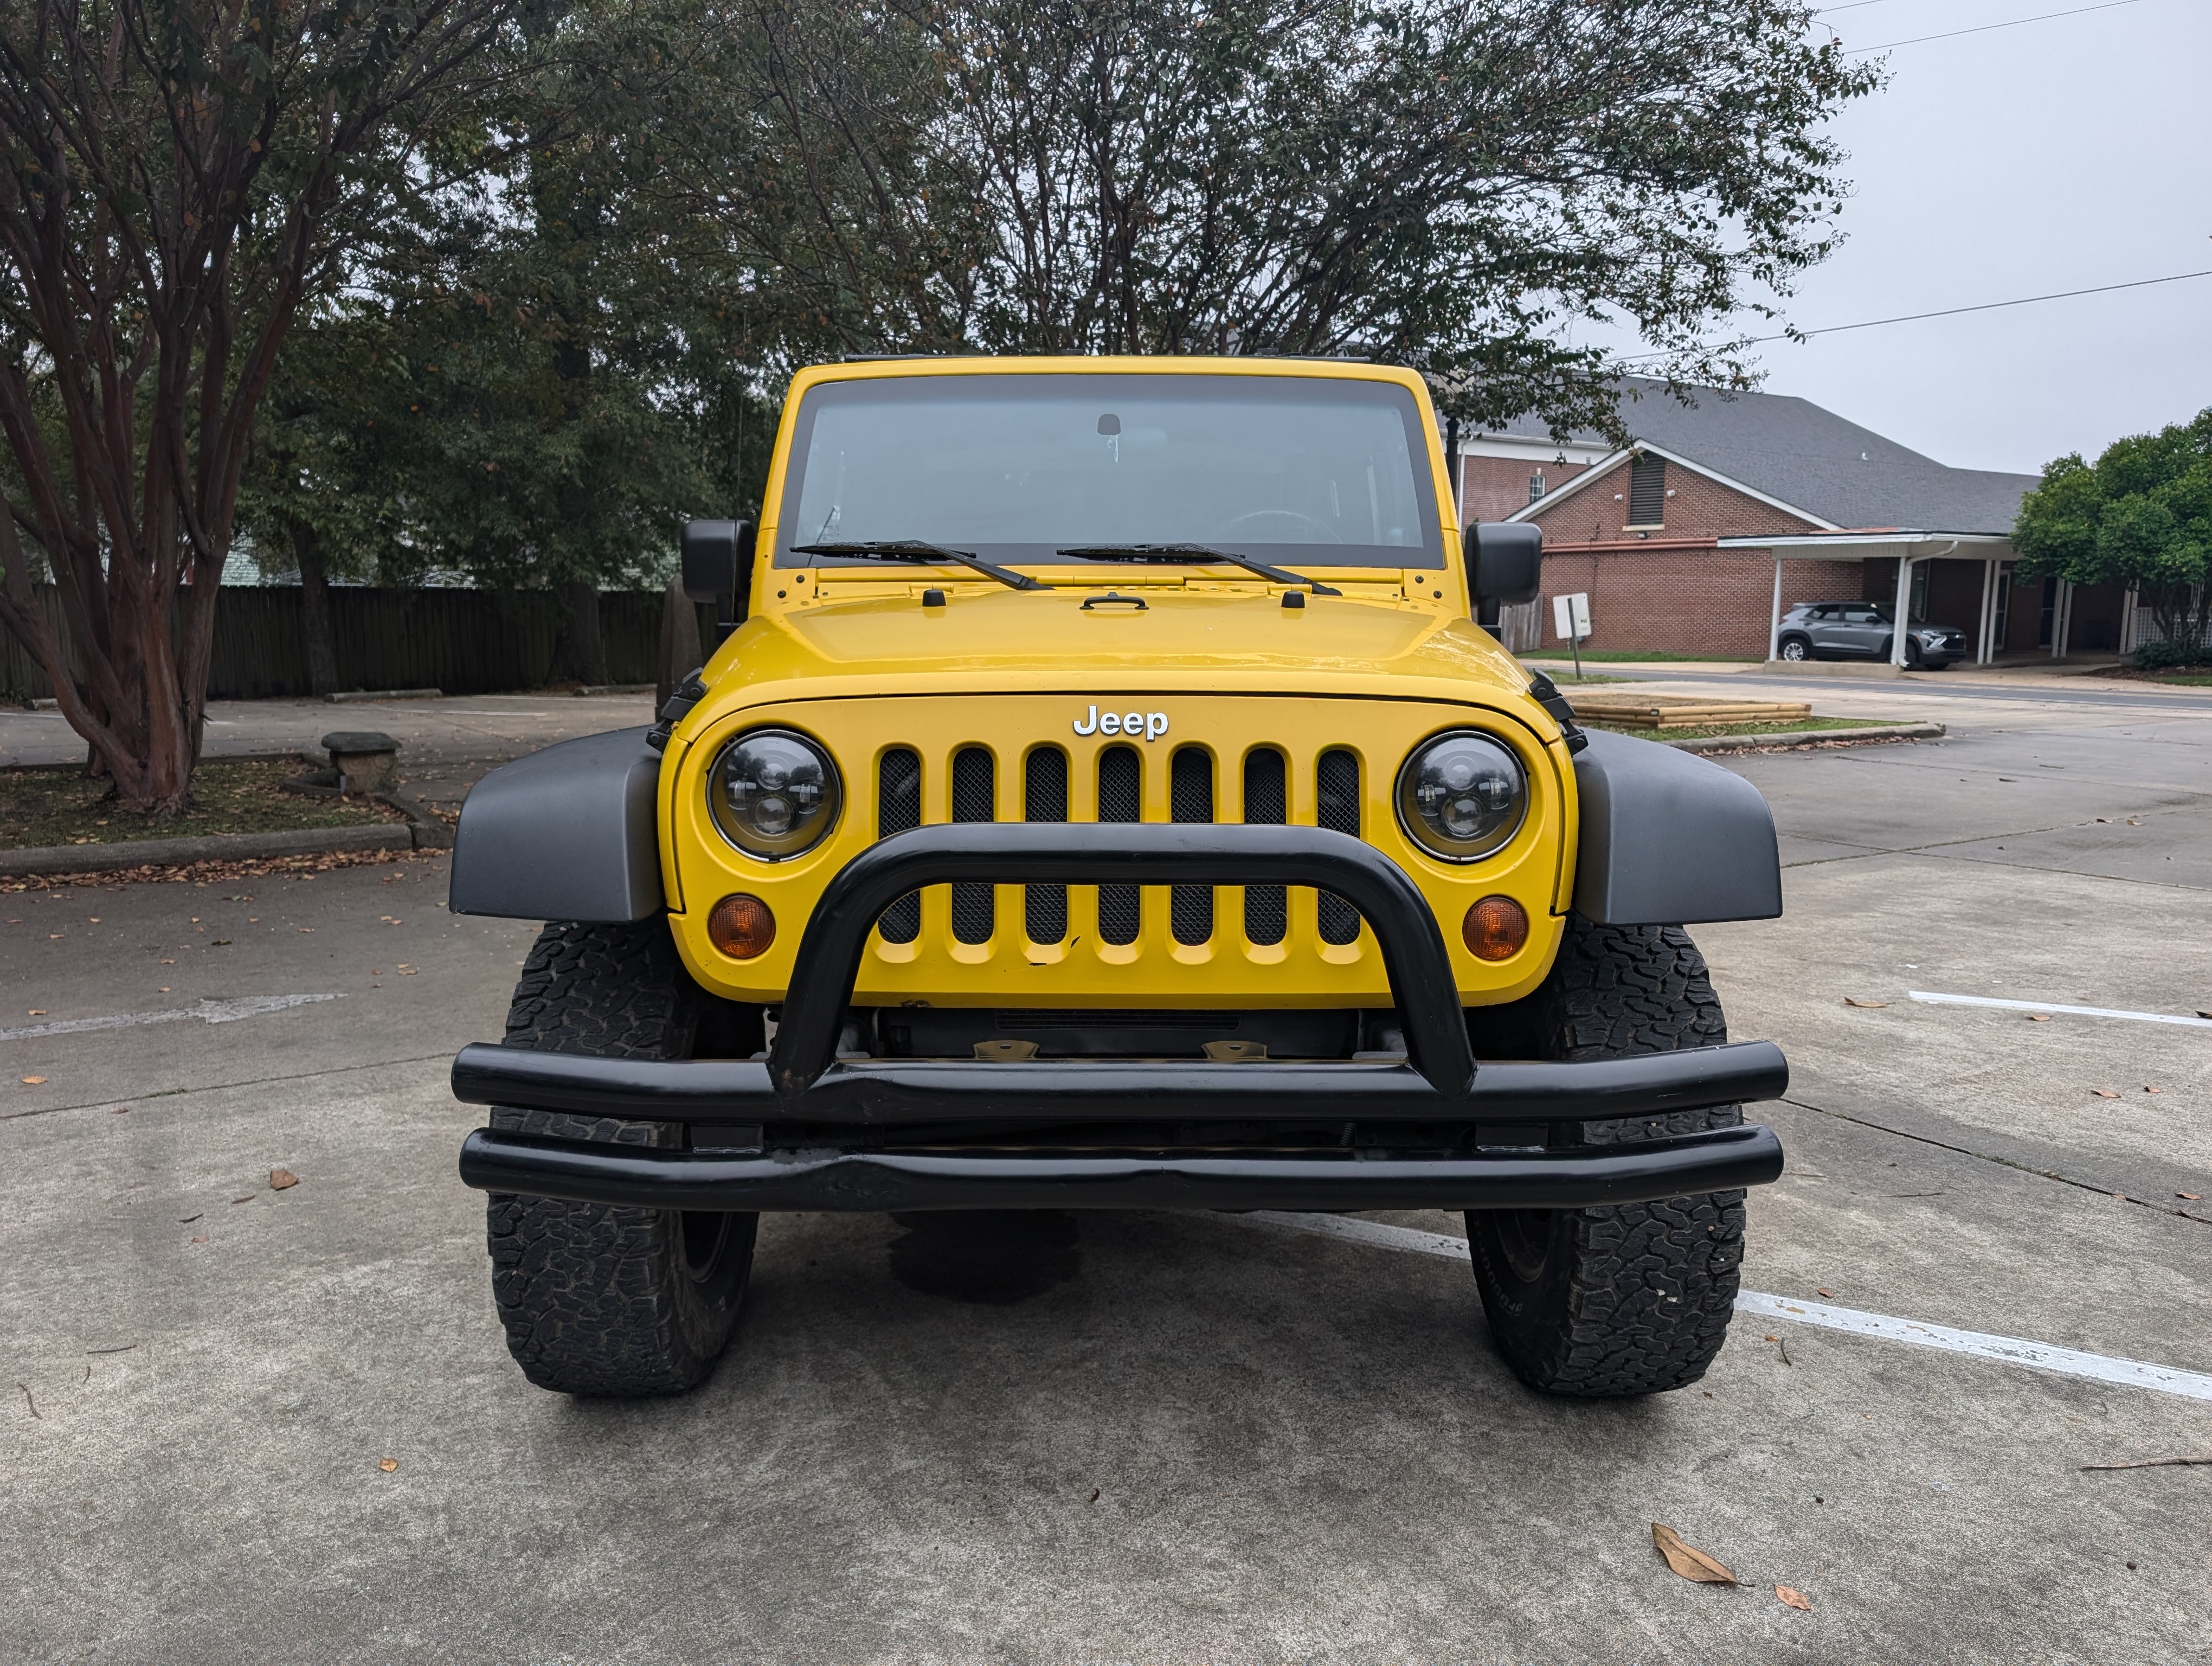
[[1681,927],[1774,823],[1577,730],[1453,520],[1402,369],[796,376],[708,664],[462,812],[451,907],[551,920],[453,1062],[524,1374],[701,1381],[761,1210],[1451,1208],[1524,1381],[1697,1381],[1787,1066]]

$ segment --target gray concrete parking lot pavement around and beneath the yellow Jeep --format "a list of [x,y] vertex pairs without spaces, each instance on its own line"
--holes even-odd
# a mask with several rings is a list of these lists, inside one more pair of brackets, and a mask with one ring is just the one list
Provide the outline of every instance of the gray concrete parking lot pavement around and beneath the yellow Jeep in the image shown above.
[[[2212,1007],[2212,723],[2015,706],[1734,761],[1792,863],[1697,934],[1794,1064],[1745,1288],[2212,1372],[2212,1031],[1911,1000]],[[0,1029],[223,1020],[0,1040],[0,1657],[2212,1659],[2212,1469],[2081,1469],[2212,1403],[1743,1316],[1544,1401],[1464,1266],[1230,1217],[772,1217],[706,1387],[540,1394],[445,1093],[531,929],[442,894],[0,896]]]

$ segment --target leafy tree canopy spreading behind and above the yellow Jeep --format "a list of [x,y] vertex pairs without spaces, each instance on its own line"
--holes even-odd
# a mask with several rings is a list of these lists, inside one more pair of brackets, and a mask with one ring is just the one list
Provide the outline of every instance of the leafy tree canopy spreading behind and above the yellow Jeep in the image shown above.
[[[1632,319],[1661,378],[1743,385],[1717,327],[1834,248],[1823,124],[1878,73],[1809,20],[546,4],[471,190],[303,330],[307,429],[268,436],[257,527],[325,518],[389,577],[648,582],[684,516],[752,507],[783,381],[843,352],[1347,352],[1469,420],[1617,429],[1577,325]],[[345,502],[285,509],[301,482]]]

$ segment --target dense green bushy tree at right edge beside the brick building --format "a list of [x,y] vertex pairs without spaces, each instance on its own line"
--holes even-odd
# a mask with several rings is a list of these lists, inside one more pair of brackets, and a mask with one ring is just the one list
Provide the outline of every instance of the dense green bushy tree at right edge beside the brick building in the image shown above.
[[2013,549],[2020,577],[2135,589],[2159,622],[2148,659],[2212,659],[2212,409],[2044,465]]

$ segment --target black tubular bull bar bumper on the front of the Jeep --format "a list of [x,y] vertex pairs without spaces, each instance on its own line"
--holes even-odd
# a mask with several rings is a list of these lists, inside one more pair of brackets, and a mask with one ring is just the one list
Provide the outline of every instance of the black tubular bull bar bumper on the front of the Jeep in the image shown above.
[[[1405,1029],[1396,1062],[838,1060],[876,918],[949,881],[1314,885],[1352,903],[1383,951]],[[626,1060],[471,1044],[467,1104],[639,1122],[759,1124],[768,1150],[617,1146],[478,1128],[460,1175],[480,1190],[692,1210],[887,1208],[1577,1208],[1761,1186],[1781,1175],[1770,1128],[1632,1144],[1528,1146],[1526,1124],[1655,1117],[1778,1097],[1772,1042],[1575,1064],[1478,1069],[1436,916],[1374,845],[1321,827],[916,827],[856,856],[807,920],[765,1060]],[[1055,1124],[1349,1122],[1371,1148],[1164,1153],[1051,1148]],[[922,1124],[960,1124],[958,1148]],[[993,1146],[978,1128],[1006,1124]],[[1389,1124],[1464,1124],[1475,1148],[1394,1148]],[[1520,1124],[1482,1148],[1482,1124]],[[779,1137],[779,1128],[783,1135]],[[830,1139],[823,1131],[832,1131]],[[916,1139],[900,1148],[900,1131]],[[812,1150],[799,1148],[812,1135]],[[1407,1128],[1398,1146],[1433,1146]],[[927,1139],[927,1148],[922,1148]],[[854,1142],[867,1148],[849,1148]]]

